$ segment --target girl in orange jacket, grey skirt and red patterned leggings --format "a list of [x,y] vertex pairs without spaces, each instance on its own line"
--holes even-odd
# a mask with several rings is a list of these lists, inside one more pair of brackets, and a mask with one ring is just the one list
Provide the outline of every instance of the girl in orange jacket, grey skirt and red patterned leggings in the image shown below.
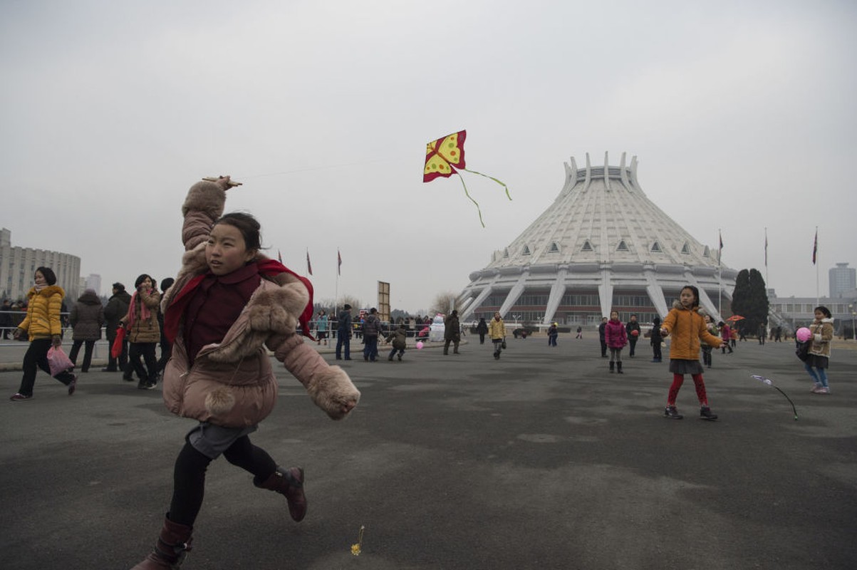
[[699,315],[699,290],[693,285],[686,285],[679,295],[679,300],[673,303],[667,318],[663,320],[661,334],[666,337],[672,333],[673,341],[669,345],[669,371],[673,373],[673,385],[669,387],[667,408],[664,417],[680,420],[683,416],[675,408],[675,399],[679,388],[685,381],[685,375],[693,378],[699,399],[699,416],[703,419],[714,420],[717,416],[708,407],[705,395],[705,383],[702,380],[702,364],[699,363],[699,341],[720,348],[721,339],[708,332],[705,320]]

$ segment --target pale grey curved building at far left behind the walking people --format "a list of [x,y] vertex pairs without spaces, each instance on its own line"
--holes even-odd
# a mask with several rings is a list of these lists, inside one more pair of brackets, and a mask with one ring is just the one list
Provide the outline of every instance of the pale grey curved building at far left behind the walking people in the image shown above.
[[0,297],[12,300],[27,297],[27,291],[33,286],[36,267],[51,267],[67,301],[79,297],[80,257],[59,251],[13,246],[12,232],[0,229]]

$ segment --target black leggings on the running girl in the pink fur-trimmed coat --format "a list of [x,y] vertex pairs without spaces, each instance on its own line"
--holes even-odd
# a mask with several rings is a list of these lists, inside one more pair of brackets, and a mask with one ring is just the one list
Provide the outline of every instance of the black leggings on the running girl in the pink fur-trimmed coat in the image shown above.
[[[277,470],[277,464],[261,447],[250,443],[247,435],[238,438],[223,456],[232,465],[237,465],[255,476],[255,483],[265,481]],[[178,453],[176,468],[173,471],[172,501],[170,502],[170,520],[179,525],[193,526],[196,515],[202,507],[202,497],[206,492],[206,470],[213,459],[198,452],[189,443],[185,443]]]

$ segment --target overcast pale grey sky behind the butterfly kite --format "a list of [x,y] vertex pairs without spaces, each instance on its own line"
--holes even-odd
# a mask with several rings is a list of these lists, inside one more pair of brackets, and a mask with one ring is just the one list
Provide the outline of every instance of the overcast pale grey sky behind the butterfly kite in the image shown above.
[[[651,4],[651,5],[647,5]],[[550,206],[563,162],[637,155],[652,201],[723,262],[812,297],[854,267],[857,4],[530,0],[0,2],[0,225],[102,292],[173,275],[189,185],[316,299],[426,309]],[[468,176],[422,182],[467,129]],[[336,257],[342,276],[337,286]]]

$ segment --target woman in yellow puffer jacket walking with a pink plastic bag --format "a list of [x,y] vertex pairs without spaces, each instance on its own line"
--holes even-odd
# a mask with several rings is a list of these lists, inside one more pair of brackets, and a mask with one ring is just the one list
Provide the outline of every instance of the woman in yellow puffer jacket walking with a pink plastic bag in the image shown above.
[[[15,329],[15,339],[21,334],[27,333],[30,339],[30,347],[24,355],[24,376],[21,378],[21,387],[12,396],[13,402],[33,398],[33,385],[36,383],[36,368],[45,370],[51,374],[48,364],[48,351],[51,346],[63,344],[60,333],[63,327],[60,324],[60,310],[63,307],[65,291],[57,285],[57,275],[51,267],[36,268],[33,276],[33,288],[27,293],[27,316]],[[63,370],[56,376],[58,381],[69,387],[69,396],[75,393],[77,376],[69,370]]]

